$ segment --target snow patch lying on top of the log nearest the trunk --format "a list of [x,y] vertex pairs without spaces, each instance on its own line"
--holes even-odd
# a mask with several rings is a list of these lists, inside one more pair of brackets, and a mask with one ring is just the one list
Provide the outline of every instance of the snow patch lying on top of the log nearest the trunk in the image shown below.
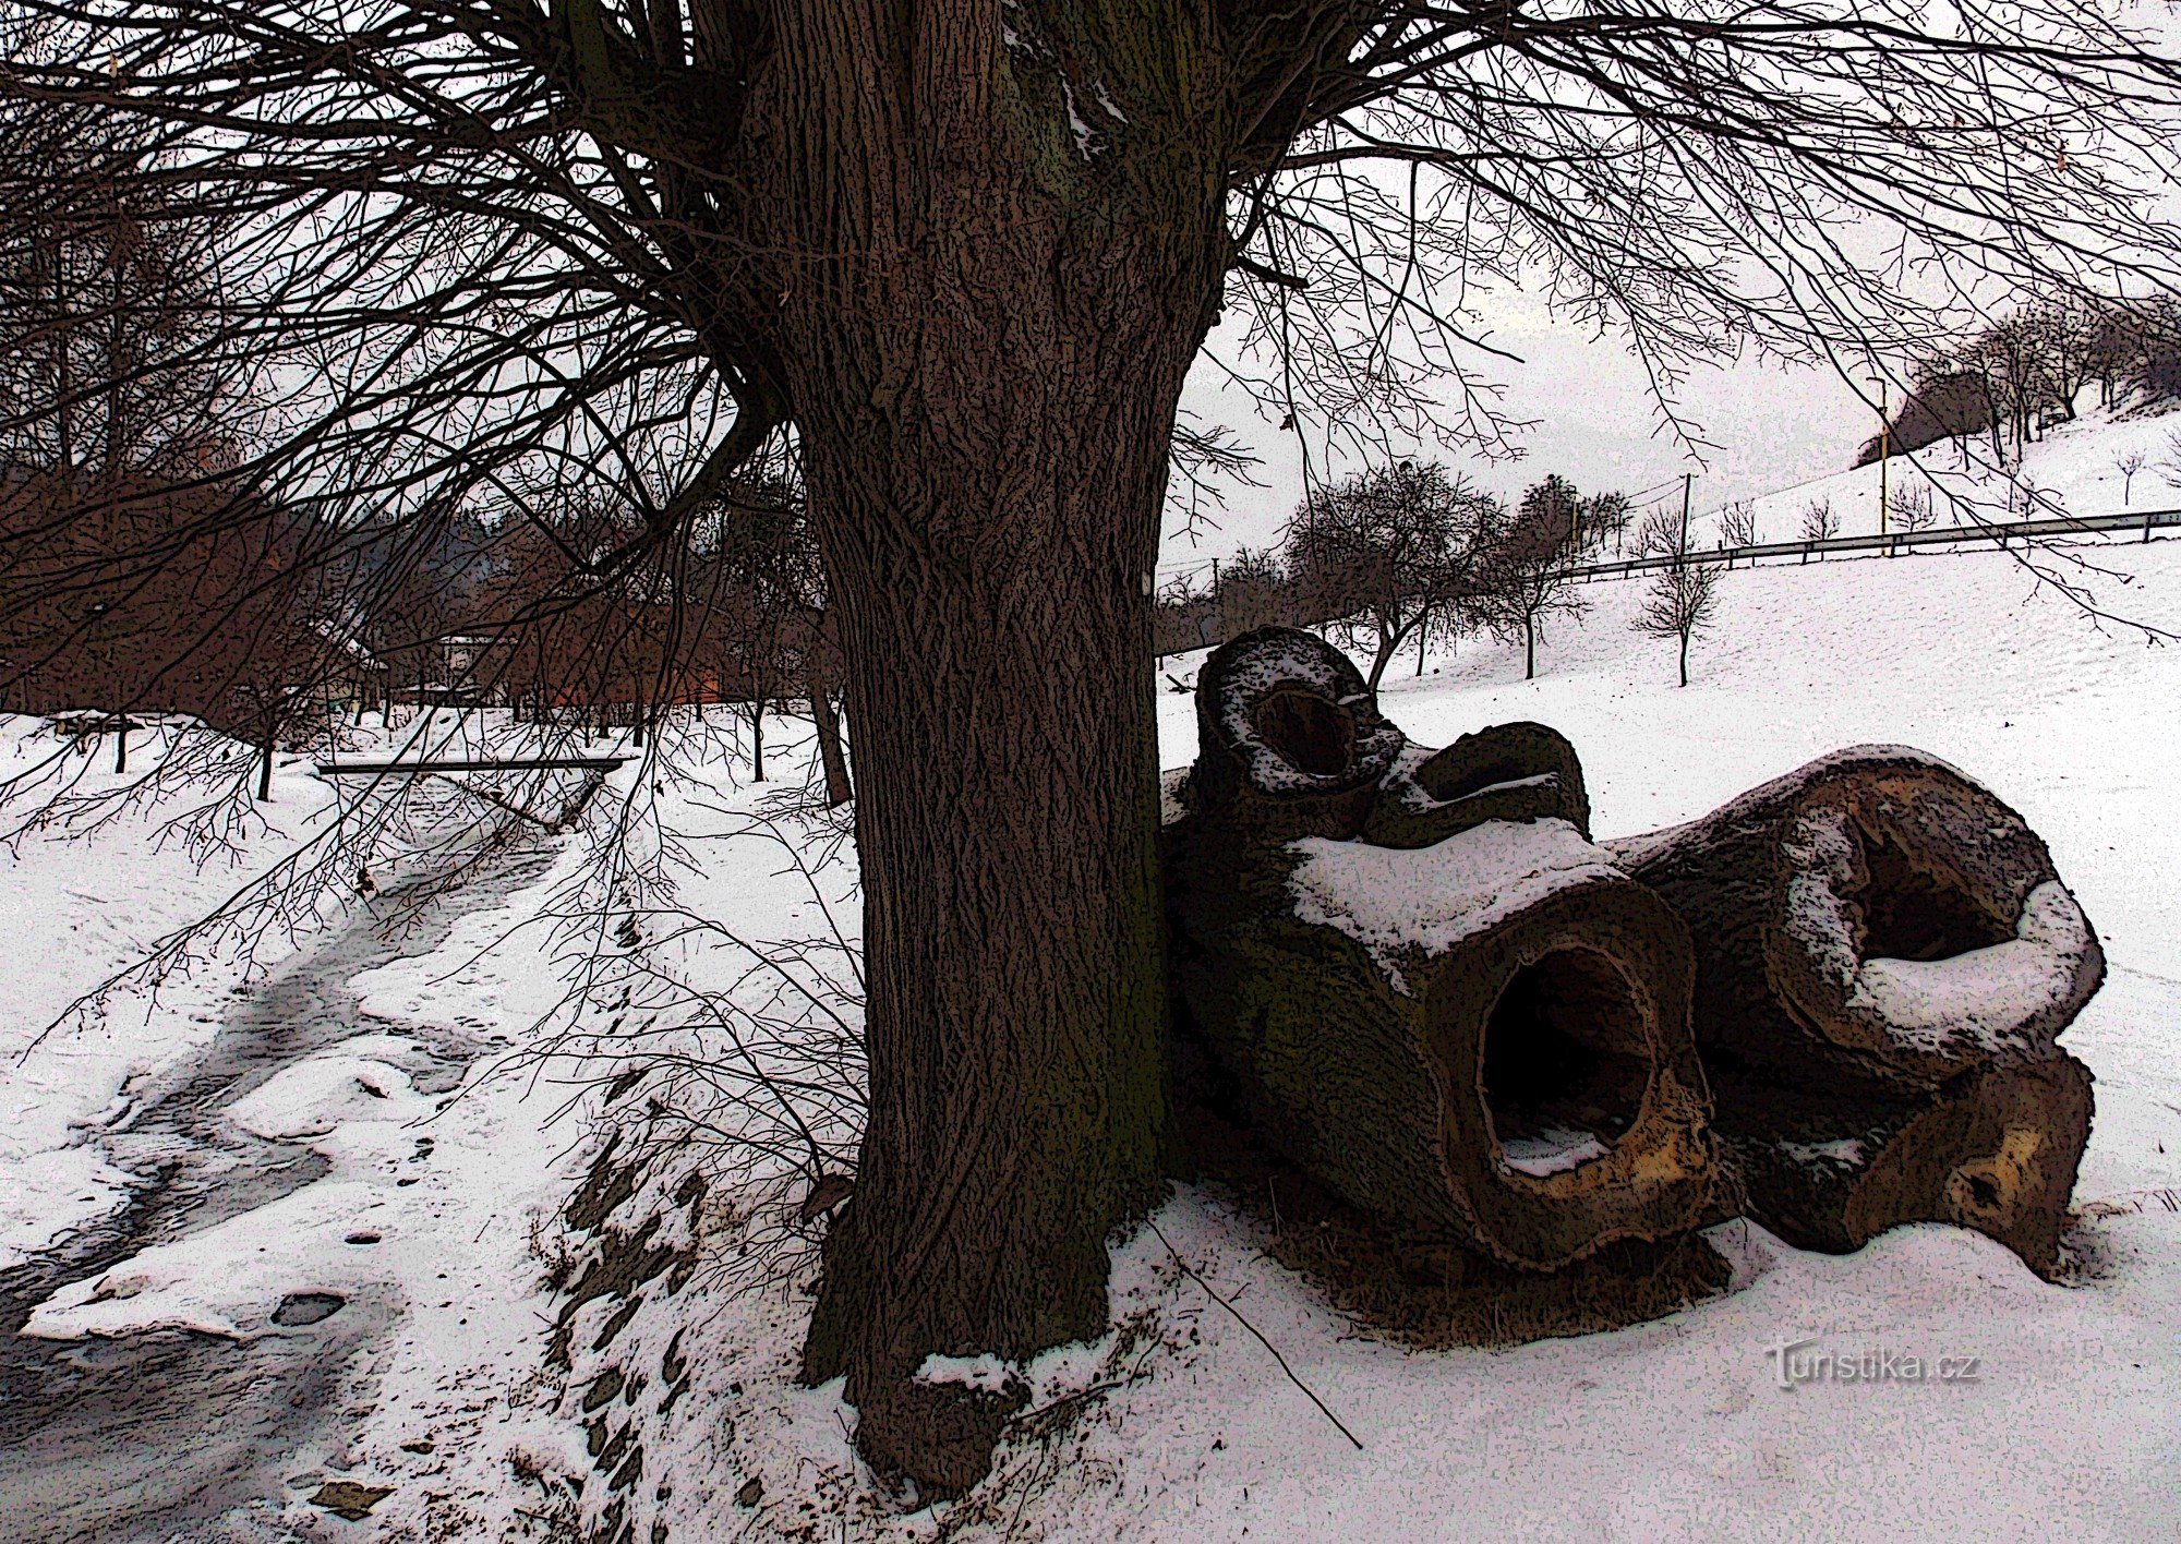
[[1287,877],[1296,916],[1363,944],[1396,990],[1400,957],[1439,955],[1544,896],[1614,872],[1566,820],[1485,820],[1426,848],[1304,837]]

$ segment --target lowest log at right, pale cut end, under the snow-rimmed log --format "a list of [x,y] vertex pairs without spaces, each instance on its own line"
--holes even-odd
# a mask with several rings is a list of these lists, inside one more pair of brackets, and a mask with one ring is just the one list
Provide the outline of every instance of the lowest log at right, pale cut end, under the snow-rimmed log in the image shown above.
[[1937,1088],[1708,1071],[1747,1213],[1788,1243],[1845,1254],[1900,1223],[1950,1221],[2055,1274],[2092,1117],[2072,1056],[1987,1062]]

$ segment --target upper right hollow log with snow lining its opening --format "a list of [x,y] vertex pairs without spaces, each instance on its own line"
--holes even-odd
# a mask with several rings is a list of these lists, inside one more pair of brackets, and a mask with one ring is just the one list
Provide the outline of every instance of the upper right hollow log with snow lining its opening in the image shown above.
[[1917,750],[1841,750],[1612,851],[1695,933],[1708,1062],[1935,1086],[2050,1056],[2105,979],[2037,833]]

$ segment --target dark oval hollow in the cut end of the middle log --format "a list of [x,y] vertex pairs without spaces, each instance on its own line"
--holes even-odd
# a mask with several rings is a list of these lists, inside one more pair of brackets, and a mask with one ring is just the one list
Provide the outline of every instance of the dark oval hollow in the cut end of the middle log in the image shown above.
[[1590,949],[1522,966],[1485,1021],[1483,1099],[1509,1169],[1531,1175],[1603,1158],[1651,1082],[1644,1012]]

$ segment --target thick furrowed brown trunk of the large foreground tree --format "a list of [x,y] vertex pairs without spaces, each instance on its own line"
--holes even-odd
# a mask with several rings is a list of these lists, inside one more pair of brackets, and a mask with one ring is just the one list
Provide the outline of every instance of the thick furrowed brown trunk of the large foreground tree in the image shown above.
[[[999,4],[779,26],[746,118],[776,126],[752,246],[787,253],[761,351],[857,724],[870,1056],[805,1374],[949,1492],[999,1413],[918,1365],[1101,1335],[1106,1239],[1162,1186],[1152,571],[1228,168],[1200,131],[1080,144]],[[1156,113],[1208,61],[1147,26],[1101,50]]]

